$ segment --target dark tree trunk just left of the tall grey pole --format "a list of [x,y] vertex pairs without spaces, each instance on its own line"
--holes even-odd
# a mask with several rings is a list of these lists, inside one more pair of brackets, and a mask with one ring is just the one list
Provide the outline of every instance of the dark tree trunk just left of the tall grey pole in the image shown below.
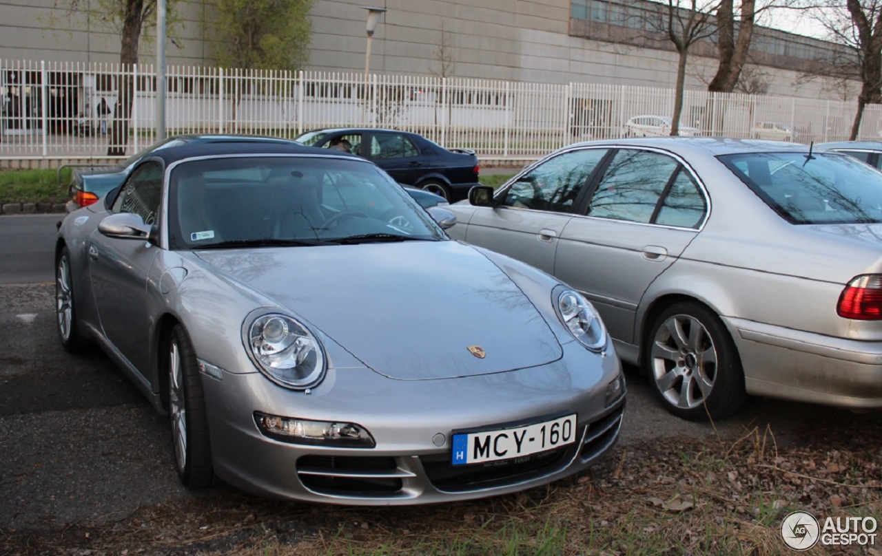
[[[110,127],[108,156],[125,156],[125,148],[129,144],[129,122],[135,92],[132,70],[134,64],[138,63],[138,41],[141,36],[141,25],[144,22],[144,2],[145,0],[127,0],[125,5],[119,52],[123,77],[120,78],[117,86],[119,96],[114,107],[113,125]],[[165,94],[165,91],[157,91],[156,94]]]

